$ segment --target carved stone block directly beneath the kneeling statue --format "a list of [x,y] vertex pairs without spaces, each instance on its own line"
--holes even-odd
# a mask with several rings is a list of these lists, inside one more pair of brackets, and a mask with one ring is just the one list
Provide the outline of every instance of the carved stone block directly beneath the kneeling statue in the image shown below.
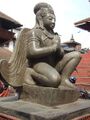
[[79,98],[76,89],[30,86],[24,84],[21,99],[38,103],[46,106],[55,106],[65,103],[71,103]]

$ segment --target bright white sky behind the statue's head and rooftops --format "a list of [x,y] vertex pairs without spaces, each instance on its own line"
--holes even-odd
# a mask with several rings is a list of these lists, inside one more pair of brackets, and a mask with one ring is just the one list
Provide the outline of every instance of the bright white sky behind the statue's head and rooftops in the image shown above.
[[74,23],[90,17],[89,0],[0,0],[0,11],[20,22],[23,27],[35,25],[34,6],[39,2],[49,3],[56,15],[55,32],[61,42],[69,41],[73,34],[82,48],[90,48],[90,32],[75,27]]

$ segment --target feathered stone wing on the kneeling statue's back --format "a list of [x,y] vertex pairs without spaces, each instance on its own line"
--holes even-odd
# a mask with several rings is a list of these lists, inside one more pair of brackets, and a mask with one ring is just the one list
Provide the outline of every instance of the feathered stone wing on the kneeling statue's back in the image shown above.
[[[30,29],[24,28],[17,36],[14,52],[7,64],[2,61],[1,74],[4,79],[12,86],[22,86],[26,71],[27,54],[27,35]],[[5,64],[7,65],[5,67]]]

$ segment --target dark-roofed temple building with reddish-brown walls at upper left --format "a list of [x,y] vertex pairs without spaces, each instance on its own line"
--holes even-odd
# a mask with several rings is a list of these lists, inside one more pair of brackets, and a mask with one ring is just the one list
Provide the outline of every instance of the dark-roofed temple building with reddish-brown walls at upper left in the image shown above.
[[19,22],[0,12],[0,46],[8,45],[10,41],[14,41],[13,30],[21,26]]

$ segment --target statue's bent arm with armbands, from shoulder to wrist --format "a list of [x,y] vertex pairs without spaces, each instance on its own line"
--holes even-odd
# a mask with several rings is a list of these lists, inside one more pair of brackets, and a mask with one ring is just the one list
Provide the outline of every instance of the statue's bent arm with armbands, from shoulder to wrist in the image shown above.
[[53,45],[50,46],[45,46],[45,47],[40,47],[40,40],[38,36],[30,35],[29,37],[29,42],[28,42],[28,55],[30,57],[42,57],[42,56],[47,56],[53,52],[56,52],[57,50],[57,43],[54,43]]

